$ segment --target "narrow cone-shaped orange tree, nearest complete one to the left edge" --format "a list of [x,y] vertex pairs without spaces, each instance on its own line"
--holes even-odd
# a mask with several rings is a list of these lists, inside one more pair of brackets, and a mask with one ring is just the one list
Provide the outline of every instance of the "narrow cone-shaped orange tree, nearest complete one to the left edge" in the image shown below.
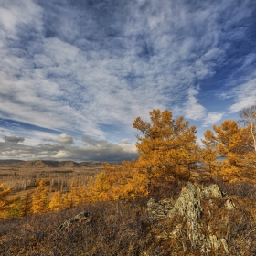
[[44,180],[39,182],[39,186],[32,196],[32,212],[43,213],[48,210],[48,188]]

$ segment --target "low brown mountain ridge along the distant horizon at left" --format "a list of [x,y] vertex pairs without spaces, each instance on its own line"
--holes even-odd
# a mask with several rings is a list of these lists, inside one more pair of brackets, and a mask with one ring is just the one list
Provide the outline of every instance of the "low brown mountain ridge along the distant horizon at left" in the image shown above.
[[8,165],[10,167],[17,168],[59,168],[59,167],[69,167],[69,168],[80,168],[80,167],[101,167],[101,162],[89,161],[77,163],[74,161],[54,161],[54,160],[0,160],[0,165]]

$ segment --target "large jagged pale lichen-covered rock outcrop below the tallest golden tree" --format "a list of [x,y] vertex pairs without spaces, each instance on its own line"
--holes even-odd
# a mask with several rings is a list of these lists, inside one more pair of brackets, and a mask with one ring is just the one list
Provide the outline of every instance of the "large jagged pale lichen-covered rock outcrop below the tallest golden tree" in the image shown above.
[[[212,251],[229,254],[226,239],[219,237],[219,232],[213,232],[209,220],[202,221],[203,217],[214,214],[208,208],[213,208],[217,201],[225,211],[235,208],[233,202],[219,190],[217,185],[200,188],[188,182],[175,204],[169,199],[159,202],[150,199],[147,205],[148,217],[154,223],[161,219],[182,219],[170,232],[164,231],[158,234],[159,239],[178,239],[185,232],[191,249],[199,249],[202,255]],[[207,206],[206,208],[202,207],[202,202]],[[183,251],[187,251],[187,245],[182,244]]]

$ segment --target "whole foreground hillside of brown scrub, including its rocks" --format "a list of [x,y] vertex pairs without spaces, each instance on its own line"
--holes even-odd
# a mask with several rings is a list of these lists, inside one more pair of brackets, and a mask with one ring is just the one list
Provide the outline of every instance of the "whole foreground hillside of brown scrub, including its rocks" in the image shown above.
[[5,219],[0,254],[256,255],[255,199],[251,183],[174,182],[148,197]]

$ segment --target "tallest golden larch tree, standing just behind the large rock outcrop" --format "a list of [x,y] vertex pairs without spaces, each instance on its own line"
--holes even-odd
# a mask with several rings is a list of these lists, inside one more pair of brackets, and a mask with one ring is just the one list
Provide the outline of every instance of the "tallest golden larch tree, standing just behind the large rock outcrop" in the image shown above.
[[196,126],[189,126],[182,116],[174,119],[168,110],[153,110],[150,122],[138,117],[133,128],[142,133],[137,135],[139,159],[135,165],[146,171],[150,184],[189,177],[199,153]]

